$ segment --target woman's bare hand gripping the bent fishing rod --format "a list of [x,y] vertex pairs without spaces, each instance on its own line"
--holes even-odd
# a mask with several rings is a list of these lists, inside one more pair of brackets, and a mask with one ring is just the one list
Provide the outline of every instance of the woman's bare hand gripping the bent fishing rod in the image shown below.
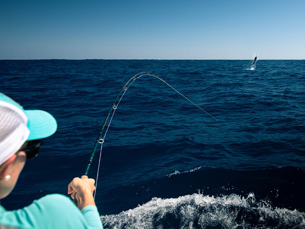
[[80,210],[87,205],[95,205],[92,195],[95,190],[94,183],[94,179],[82,176],[81,178],[75,177],[68,185],[68,194],[71,194],[72,199],[76,199],[77,207]]

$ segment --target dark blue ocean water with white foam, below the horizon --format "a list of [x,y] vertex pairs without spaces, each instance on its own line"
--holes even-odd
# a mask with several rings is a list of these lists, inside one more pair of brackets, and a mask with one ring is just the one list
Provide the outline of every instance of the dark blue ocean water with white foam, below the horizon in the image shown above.
[[[0,60],[0,91],[58,122],[1,204],[67,192],[102,148],[105,228],[304,228],[305,60]],[[100,144],[89,170],[96,178]]]

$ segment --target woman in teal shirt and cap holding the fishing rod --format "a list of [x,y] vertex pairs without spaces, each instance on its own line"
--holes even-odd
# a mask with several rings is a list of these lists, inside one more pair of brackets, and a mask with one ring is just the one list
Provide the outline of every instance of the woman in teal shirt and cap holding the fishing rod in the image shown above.
[[[0,199],[13,190],[27,159],[34,158],[42,142],[57,129],[52,115],[24,110],[0,93]],[[68,185],[70,198],[52,194],[15,211],[0,205],[0,228],[103,228],[93,199],[95,180],[74,178]]]

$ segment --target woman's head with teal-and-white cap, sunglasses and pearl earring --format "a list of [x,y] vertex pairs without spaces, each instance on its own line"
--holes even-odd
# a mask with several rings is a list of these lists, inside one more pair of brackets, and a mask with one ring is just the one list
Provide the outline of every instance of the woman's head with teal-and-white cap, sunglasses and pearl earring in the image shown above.
[[27,154],[38,149],[33,140],[51,136],[56,129],[56,120],[48,112],[24,110],[0,93],[0,199],[15,187]]

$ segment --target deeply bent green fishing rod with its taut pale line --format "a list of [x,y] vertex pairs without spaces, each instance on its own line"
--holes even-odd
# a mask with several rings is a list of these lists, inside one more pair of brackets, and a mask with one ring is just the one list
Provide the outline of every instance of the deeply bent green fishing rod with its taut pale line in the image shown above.
[[[97,148],[97,145],[98,143],[101,144],[101,150],[100,150],[100,156],[99,156],[99,165],[98,165],[98,171],[97,171],[97,176],[96,176],[96,183],[95,183],[95,187],[97,187],[97,180],[98,180],[98,176],[99,176],[99,167],[100,167],[100,161],[101,161],[101,155],[102,155],[102,146],[103,146],[103,143],[105,141],[105,137],[106,137],[106,134],[107,134],[107,131],[109,129],[109,126],[110,126],[110,123],[112,121],[112,118],[113,118],[113,115],[117,109],[117,106],[119,105],[120,101],[122,100],[123,96],[125,95],[127,89],[131,86],[131,84],[133,82],[135,82],[136,79],[142,77],[142,76],[146,76],[146,75],[149,75],[149,76],[154,76],[158,79],[160,79],[162,82],[166,83],[170,88],[172,88],[174,91],[176,91],[177,93],[179,93],[181,96],[183,96],[185,99],[187,99],[189,102],[191,102],[192,104],[194,104],[196,107],[198,107],[200,110],[204,111],[206,114],[210,115],[208,112],[206,112],[205,110],[203,110],[201,107],[199,107],[197,104],[193,103],[191,100],[189,100],[187,97],[185,97],[184,95],[182,95],[180,92],[178,92],[176,89],[174,89],[171,85],[169,85],[167,82],[165,82],[162,78],[160,78],[158,75],[155,75],[154,73],[150,73],[150,72],[141,72],[141,73],[138,73],[136,75],[134,75],[133,77],[131,77],[127,82],[126,84],[122,87],[122,89],[120,90],[120,92],[117,94],[117,97],[115,98],[115,100],[113,101],[113,104],[108,112],[108,114],[106,115],[106,118],[103,122],[103,125],[102,125],[102,128],[99,132],[99,135],[95,141],[95,145],[91,151],[91,154],[90,154],[90,158],[88,160],[88,163],[87,163],[87,168],[86,168],[86,171],[84,173],[84,176],[87,176],[88,177],[88,171],[89,171],[89,168],[90,168],[90,165],[92,163],[92,160],[93,160],[93,157],[94,157],[94,154],[95,154],[95,151],[96,151],[96,148]],[[130,82],[130,83],[129,83]],[[122,94],[122,96],[120,97],[121,93],[124,91],[124,93]],[[118,103],[116,104],[118,98],[120,97],[120,100],[118,101]],[[108,118],[110,116],[110,113],[112,112],[112,115],[111,115],[111,118],[109,120],[109,124],[106,128],[106,131],[105,131],[105,134],[103,136],[103,138],[101,138],[102,136],[102,132],[105,128],[105,125],[108,121]],[[210,115],[212,118],[214,118],[212,115]],[[217,119],[214,118],[216,121]],[[94,198],[95,198],[95,193],[96,193],[96,188],[95,188],[95,192],[94,192]]]

